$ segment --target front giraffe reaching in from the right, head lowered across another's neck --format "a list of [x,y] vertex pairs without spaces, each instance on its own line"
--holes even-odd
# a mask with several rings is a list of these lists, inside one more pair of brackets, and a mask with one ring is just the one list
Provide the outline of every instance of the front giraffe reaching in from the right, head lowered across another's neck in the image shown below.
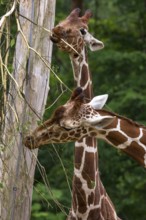
[[25,146],[34,149],[47,143],[97,137],[146,167],[146,127],[103,110],[107,95],[96,96],[89,103],[85,103],[84,99],[83,90],[75,89],[65,105],[58,107],[49,120],[25,137]]

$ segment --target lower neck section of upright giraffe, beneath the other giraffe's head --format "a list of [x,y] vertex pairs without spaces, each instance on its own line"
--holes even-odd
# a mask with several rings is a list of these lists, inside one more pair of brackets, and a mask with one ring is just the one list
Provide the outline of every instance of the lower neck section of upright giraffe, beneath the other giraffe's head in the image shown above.
[[100,181],[97,147],[92,141],[94,138],[83,138],[75,144],[73,201],[68,220],[117,220],[114,206]]

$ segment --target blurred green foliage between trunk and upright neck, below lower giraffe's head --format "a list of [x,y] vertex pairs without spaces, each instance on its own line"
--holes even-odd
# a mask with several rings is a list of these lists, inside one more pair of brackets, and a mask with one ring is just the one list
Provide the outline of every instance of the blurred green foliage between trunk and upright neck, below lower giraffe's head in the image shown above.
[[52,220],[54,215],[54,217],[57,216],[57,219],[65,220],[71,203],[69,188],[73,174],[72,157],[73,146],[49,145],[40,150],[39,161],[41,161],[41,166],[45,167],[47,173],[40,167],[36,170],[37,181],[35,181],[36,188],[33,194],[32,206],[33,219],[35,219],[34,214],[36,215],[38,212],[38,210],[33,210],[33,207],[36,204],[41,204],[40,211],[47,212],[48,219]]

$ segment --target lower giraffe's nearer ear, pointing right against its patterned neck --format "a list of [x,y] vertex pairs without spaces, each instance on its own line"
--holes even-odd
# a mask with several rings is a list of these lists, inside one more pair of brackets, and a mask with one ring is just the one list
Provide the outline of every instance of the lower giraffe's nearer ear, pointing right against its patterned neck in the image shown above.
[[93,118],[87,119],[86,122],[89,125],[94,126],[97,129],[102,129],[108,126],[109,124],[111,124],[114,120],[115,120],[114,116],[99,116],[98,115]]

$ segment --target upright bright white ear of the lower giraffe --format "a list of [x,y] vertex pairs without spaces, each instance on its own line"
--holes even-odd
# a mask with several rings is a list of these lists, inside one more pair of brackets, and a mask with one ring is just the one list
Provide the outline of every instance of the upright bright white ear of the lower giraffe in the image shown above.
[[99,95],[99,96],[95,96],[91,102],[89,102],[89,105],[92,106],[92,108],[94,109],[102,109],[103,106],[105,105],[106,101],[108,99],[108,95]]

